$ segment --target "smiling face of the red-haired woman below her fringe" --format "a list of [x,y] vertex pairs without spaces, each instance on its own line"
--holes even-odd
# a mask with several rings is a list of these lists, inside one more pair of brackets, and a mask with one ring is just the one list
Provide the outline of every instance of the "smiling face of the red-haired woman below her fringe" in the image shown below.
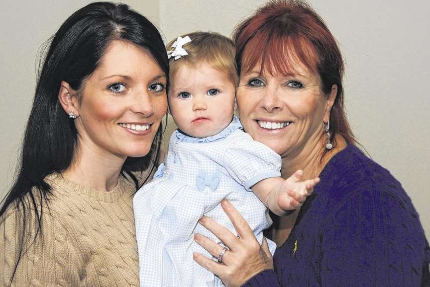
[[302,65],[300,74],[243,71],[237,89],[240,120],[254,140],[280,155],[297,156],[321,145],[322,122],[328,120],[333,95],[323,95],[318,74]]

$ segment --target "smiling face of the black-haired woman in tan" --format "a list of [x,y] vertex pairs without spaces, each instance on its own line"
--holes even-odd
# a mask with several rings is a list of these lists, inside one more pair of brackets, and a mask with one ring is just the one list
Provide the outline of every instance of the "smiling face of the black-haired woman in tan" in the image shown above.
[[166,81],[147,51],[112,41],[80,91],[81,148],[102,156],[146,155],[167,111]]

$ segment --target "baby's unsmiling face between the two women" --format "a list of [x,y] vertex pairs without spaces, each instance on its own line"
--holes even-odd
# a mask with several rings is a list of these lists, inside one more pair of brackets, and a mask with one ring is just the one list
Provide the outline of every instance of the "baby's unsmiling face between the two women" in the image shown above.
[[169,108],[178,128],[194,138],[216,135],[228,126],[236,87],[229,75],[204,63],[181,66],[170,79]]

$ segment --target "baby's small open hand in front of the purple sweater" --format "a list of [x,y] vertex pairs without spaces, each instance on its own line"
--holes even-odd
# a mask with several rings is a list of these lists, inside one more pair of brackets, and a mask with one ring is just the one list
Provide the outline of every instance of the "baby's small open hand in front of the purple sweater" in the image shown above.
[[302,176],[303,171],[299,169],[282,183],[278,192],[278,206],[282,210],[294,210],[301,207],[320,182],[319,177],[300,181]]

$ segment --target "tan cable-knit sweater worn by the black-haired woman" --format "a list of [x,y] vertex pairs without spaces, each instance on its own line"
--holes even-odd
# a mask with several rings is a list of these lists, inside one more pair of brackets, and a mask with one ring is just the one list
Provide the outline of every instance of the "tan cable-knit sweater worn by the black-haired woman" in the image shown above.
[[[122,176],[112,191],[96,191],[61,175],[52,187],[41,233],[22,256],[12,286],[138,286],[132,194]],[[35,215],[25,219],[34,238]],[[11,207],[0,218],[1,286],[8,286],[18,254],[20,215]],[[30,241],[31,243],[32,241]]]

